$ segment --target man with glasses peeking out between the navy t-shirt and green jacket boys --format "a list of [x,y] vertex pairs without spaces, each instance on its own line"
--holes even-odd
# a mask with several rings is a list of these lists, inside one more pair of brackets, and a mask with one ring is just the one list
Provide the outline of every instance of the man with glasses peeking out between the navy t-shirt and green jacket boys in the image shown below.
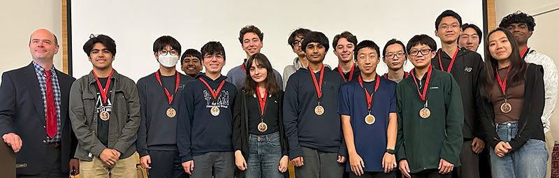
[[386,66],[389,67],[389,72],[382,75],[382,77],[399,83],[409,76],[409,73],[404,71],[407,54],[406,47],[402,41],[396,39],[389,40],[384,45],[382,52],[382,59]]

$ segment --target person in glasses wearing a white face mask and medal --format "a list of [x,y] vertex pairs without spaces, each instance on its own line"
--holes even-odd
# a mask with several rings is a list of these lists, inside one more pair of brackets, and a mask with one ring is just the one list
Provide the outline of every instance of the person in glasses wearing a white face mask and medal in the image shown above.
[[171,36],[161,36],[153,43],[159,70],[138,80],[140,117],[136,150],[140,164],[151,177],[187,177],[180,165],[177,147],[178,98],[192,77],[175,69],[180,57],[180,43]]

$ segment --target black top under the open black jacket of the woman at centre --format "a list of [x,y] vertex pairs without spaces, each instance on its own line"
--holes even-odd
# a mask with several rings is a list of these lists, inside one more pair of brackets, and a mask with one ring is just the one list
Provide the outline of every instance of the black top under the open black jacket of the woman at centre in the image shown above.
[[279,126],[277,125],[279,105],[277,104],[277,100],[270,96],[266,98],[266,106],[264,106],[264,123],[268,125],[268,130],[265,132],[260,132],[258,130],[258,124],[261,122],[261,111],[259,109],[260,102],[256,97],[249,97],[247,103],[249,107],[249,133],[253,135],[266,135],[279,131]]

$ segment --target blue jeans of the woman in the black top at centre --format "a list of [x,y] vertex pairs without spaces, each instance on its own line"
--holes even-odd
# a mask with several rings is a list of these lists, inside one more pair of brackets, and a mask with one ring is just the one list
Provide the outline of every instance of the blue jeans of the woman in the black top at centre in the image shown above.
[[282,158],[282,146],[279,132],[268,135],[249,135],[249,158],[247,161],[247,178],[282,178],[279,172],[279,160]]

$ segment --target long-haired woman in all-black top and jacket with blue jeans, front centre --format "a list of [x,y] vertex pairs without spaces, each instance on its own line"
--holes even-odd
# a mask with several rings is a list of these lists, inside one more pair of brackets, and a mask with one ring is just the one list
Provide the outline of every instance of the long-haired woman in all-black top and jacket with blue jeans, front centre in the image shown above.
[[245,84],[233,107],[237,177],[289,177],[282,117],[284,92],[264,54],[253,54],[245,65]]

